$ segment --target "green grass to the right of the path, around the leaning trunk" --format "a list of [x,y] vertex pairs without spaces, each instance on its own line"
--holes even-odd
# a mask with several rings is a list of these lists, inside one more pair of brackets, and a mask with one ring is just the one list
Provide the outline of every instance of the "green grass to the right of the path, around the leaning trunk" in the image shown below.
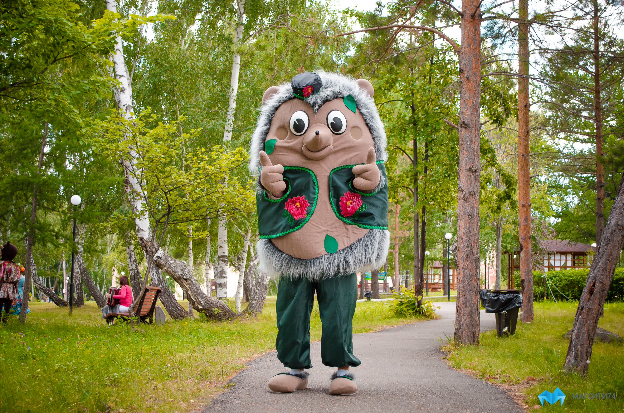
[[[559,387],[566,395],[560,403],[544,409],[552,412],[624,412],[624,346],[595,342],[586,378],[562,372],[568,349],[563,338],[574,321],[578,303],[535,303],[535,322],[518,323],[516,333],[499,338],[495,331],[480,336],[480,346],[444,347],[447,359],[456,369],[467,369],[477,377],[525,394],[528,406],[540,404],[538,395]],[[605,316],[598,325],[624,336],[624,303],[605,306]],[[505,386],[504,386],[505,387]],[[615,393],[617,398],[573,399],[573,393]]]

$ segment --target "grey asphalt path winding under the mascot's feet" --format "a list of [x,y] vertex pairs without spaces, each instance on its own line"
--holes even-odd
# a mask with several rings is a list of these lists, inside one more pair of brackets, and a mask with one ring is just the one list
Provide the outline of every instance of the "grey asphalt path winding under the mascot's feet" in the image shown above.
[[[520,409],[498,387],[447,366],[440,346],[454,332],[455,303],[441,306],[439,319],[354,334],[354,354],[361,359],[351,371],[358,392],[331,396],[332,367],[321,363],[321,346],[312,343],[310,382],[290,394],[269,391],[266,382],[285,371],[272,351],[251,361],[230,383],[235,386],[215,397],[208,412],[514,412]],[[481,311],[481,331],[495,328],[494,316]],[[446,336],[445,336],[446,334]]]

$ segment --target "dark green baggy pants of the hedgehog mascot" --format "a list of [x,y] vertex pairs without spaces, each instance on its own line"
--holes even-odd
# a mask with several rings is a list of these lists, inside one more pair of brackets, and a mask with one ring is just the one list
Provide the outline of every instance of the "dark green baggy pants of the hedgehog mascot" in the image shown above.
[[358,299],[355,274],[310,281],[280,279],[277,293],[277,358],[291,369],[310,369],[310,313],[314,291],[323,324],[321,359],[329,367],[359,366],[353,355],[353,314]]

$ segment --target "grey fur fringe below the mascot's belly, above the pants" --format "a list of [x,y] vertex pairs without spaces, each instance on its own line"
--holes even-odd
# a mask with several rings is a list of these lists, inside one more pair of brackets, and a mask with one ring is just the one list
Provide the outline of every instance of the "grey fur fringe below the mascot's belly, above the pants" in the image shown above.
[[268,275],[323,279],[379,268],[386,263],[389,246],[388,231],[370,230],[343,250],[310,260],[290,256],[266,239],[258,241],[256,250],[260,266]]

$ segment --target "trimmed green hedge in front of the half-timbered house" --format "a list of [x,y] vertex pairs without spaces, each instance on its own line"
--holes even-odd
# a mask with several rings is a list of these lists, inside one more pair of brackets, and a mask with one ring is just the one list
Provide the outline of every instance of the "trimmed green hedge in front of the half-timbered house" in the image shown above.
[[[578,300],[583,294],[589,268],[583,270],[533,272],[534,299]],[[520,289],[520,273],[514,275],[514,286]],[[550,289],[548,288],[550,287]],[[551,293],[552,291],[552,293]],[[607,301],[624,301],[624,268],[616,268],[613,282],[607,293]]]

